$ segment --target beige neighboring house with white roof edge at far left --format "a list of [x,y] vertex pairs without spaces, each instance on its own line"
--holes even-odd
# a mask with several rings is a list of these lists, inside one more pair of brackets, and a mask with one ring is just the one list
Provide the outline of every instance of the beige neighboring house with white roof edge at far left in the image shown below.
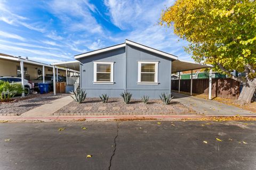
[[[42,76],[43,66],[45,75],[53,74],[52,65],[0,53],[0,77],[21,77],[21,61],[24,63],[24,78],[27,80],[35,80]],[[65,76],[66,69],[59,68],[58,75]]]

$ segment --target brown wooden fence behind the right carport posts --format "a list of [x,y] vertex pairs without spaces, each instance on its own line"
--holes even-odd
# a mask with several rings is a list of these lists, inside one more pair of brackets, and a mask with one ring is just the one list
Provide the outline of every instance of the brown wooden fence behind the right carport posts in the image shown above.
[[[190,79],[180,80],[180,91],[190,92],[190,81]],[[237,99],[239,85],[238,81],[231,78],[212,79],[212,98]],[[172,80],[172,90],[179,90],[179,80]],[[192,92],[209,95],[209,79],[193,79]]]

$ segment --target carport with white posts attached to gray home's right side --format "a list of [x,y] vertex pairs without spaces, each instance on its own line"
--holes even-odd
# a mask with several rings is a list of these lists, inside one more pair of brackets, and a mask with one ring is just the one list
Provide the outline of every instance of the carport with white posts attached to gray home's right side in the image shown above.
[[[184,60],[175,60],[172,62],[172,73],[179,73],[179,93],[180,93],[180,72],[182,71],[190,71],[191,70],[191,77],[190,77],[190,96],[192,96],[192,89],[193,89],[193,70],[197,69],[205,69],[208,67],[213,67],[211,64],[203,64],[203,63],[196,63]],[[209,99],[212,99],[211,88],[212,88],[212,69],[209,72]]]

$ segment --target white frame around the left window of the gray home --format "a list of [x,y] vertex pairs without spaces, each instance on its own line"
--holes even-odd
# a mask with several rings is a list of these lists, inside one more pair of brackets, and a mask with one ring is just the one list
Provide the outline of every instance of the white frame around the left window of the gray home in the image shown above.
[[[93,62],[93,84],[114,84],[115,62]],[[97,64],[110,64],[110,81],[97,81]]]

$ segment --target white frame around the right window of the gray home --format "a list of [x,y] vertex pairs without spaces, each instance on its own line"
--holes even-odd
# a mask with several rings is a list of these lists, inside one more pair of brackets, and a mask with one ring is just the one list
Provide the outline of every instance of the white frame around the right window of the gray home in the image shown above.
[[[154,82],[141,82],[141,64],[155,64],[155,81]],[[138,82],[140,85],[157,85],[158,82],[158,61],[138,61]]]

